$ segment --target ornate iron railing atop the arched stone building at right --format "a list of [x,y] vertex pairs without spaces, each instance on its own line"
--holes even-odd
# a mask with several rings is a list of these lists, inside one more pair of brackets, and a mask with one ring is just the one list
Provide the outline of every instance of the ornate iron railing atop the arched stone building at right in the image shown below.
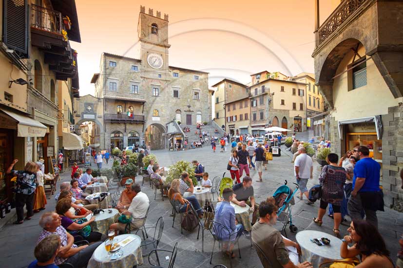
[[319,27],[316,36],[316,45],[322,44],[345,21],[350,18],[365,2],[369,0],[344,0]]

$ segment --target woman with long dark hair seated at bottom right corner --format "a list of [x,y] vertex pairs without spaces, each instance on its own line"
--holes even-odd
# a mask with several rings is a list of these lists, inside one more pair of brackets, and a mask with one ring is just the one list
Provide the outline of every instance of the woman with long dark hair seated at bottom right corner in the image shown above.
[[[372,224],[364,220],[353,220],[347,232],[349,234],[342,239],[340,247],[342,258],[360,255],[361,263],[357,268],[394,268],[384,238]],[[349,243],[355,244],[348,247]]]

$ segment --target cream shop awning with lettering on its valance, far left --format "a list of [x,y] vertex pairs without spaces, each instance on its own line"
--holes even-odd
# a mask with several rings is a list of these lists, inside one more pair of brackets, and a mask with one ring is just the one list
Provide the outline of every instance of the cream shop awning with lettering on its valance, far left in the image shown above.
[[32,119],[26,115],[21,115],[6,109],[2,112],[12,117],[18,122],[17,137],[44,137],[47,127],[39,121]]

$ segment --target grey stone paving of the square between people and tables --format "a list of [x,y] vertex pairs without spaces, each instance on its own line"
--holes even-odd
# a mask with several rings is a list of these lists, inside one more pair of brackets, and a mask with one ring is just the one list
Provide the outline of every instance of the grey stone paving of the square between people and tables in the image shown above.
[[[285,148],[284,145],[283,148]],[[198,160],[205,166],[205,170],[209,172],[211,179],[215,176],[223,176],[224,171],[226,171],[227,161],[230,157],[230,152],[220,153],[218,151],[213,153],[210,146],[188,151],[168,152],[166,150],[159,150],[153,151],[152,153],[156,155],[161,166],[169,166],[178,160]],[[274,157],[273,161],[269,162],[268,170],[263,172],[263,183],[255,182],[258,178],[256,171],[252,170],[250,172],[253,179],[255,197],[258,202],[272,195],[280,185],[284,184],[285,179],[287,179],[289,183],[295,181],[292,169],[293,164],[290,160],[291,154],[285,150],[282,151],[281,157]],[[111,165],[112,161],[109,163],[109,166]],[[226,175],[229,176],[228,173]],[[318,182],[318,175],[319,165],[315,163],[314,179],[309,180],[308,187]],[[62,176],[63,180],[66,181],[70,179],[69,177],[67,173],[64,173]],[[136,177],[136,182],[141,183],[141,176]],[[230,267],[228,258],[224,257],[219,252],[217,245],[215,245],[215,253],[212,258],[212,264],[210,265],[210,255],[213,244],[210,232],[205,232],[205,252],[201,252],[201,238],[199,240],[196,239],[197,229],[193,232],[183,231],[183,234],[181,234],[178,218],[175,219],[174,227],[172,228],[173,218],[170,216],[172,207],[169,201],[167,199],[162,201],[161,197],[158,195],[154,201],[154,190],[149,187],[148,183],[144,184],[142,191],[150,198],[150,213],[146,225],[152,226],[160,216],[163,216],[165,220],[164,232],[159,248],[172,250],[174,243],[179,242],[179,251],[176,257],[175,267],[210,268],[217,264],[224,264]],[[46,211],[50,211],[54,207],[55,201],[54,198],[51,198],[48,200]],[[296,204],[292,208],[292,221],[298,227],[299,231],[309,229],[332,233],[333,220],[327,216],[323,219],[324,224],[322,227],[313,224],[312,218],[316,216],[318,208],[318,202],[310,206],[305,204],[305,200],[300,201],[296,199]],[[33,249],[38,238],[38,233],[40,232],[40,227],[38,226],[40,214],[41,213],[35,214],[31,221],[26,221],[22,225],[7,224],[0,231],[0,241],[3,245],[2,250],[0,250],[0,258],[5,265],[4,267],[26,267],[29,262],[34,259]],[[398,237],[403,233],[403,214],[385,209],[385,212],[378,212],[378,217],[380,232],[386,240],[388,249],[391,251],[392,259],[395,260],[399,246]],[[347,217],[347,219],[349,218]],[[341,225],[340,227],[342,235],[347,233],[347,224]],[[280,225],[277,227],[281,228]],[[287,234],[290,239],[295,239],[294,233],[290,233],[288,230]],[[238,258],[236,246],[234,249],[236,255],[233,259],[234,267],[262,267],[255,250],[250,247],[250,242],[247,238],[241,237],[240,248],[242,258]],[[160,255],[160,260],[165,260],[166,255],[168,254]],[[145,258],[144,262],[145,264],[141,267],[150,267],[147,258]],[[165,262],[164,267],[167,266],[168,262]]]

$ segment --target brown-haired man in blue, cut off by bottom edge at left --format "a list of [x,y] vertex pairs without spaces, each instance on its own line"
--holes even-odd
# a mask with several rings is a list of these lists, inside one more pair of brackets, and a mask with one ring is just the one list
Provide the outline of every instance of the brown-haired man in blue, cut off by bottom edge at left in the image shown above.
[[34,255],[36,260],[28,268],[58,268],[55,258],[60,248],[60,238],[57,234],[51,234],[38,243]]

